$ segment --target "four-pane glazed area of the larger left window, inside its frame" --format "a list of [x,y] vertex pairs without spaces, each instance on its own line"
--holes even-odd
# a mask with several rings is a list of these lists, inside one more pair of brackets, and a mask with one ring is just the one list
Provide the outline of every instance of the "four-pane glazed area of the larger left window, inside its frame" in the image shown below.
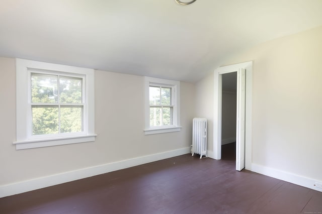
[[30,136],[84,131],[83,78],[30,71]]

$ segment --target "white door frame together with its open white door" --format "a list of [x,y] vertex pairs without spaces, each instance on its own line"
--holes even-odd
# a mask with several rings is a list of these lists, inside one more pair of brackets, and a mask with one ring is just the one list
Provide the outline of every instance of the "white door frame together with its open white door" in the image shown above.
[[222,144],[222,76],[237,73],[236,85],[236,170],[251,169],[252,157],[252,68],[244,62],[214,71],[214,138],[213,158],[221,159]]

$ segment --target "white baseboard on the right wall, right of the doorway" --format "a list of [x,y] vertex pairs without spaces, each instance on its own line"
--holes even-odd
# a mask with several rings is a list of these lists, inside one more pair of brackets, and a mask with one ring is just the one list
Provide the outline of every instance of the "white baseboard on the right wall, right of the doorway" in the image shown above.
[[318,181],[318,180],[314,180],[311,178],[307,178],[304,176],[300,176],[300,175],[296,175],[296,174],[292,174],[289,172],[285,172],[285,171],[281,171],[278,169],[273,169],[273,168],[269,168],[269,167],[265,167],[265,166],[261,166],[261,165],[257,165],[257,164],[252,164],[252,168],[250,169],[253,172],[257,172],[263,175],[267,175],[273,178],[277,178],[280,180],[284,180],[286,182],[289,183],[294,183],[300,186],[304,186],[310,189],[314,189],[316,191],[320,191],[322,192],[322,188],[318,188],[316,186],[314,186],[314,184],[317,183],[322,183],[322,181]]

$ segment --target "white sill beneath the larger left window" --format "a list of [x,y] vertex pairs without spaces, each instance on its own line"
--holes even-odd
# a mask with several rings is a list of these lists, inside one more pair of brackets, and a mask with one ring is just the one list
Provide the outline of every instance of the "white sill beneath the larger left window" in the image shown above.
[[97,136],[96,134],[92,134],[92,135],[78,135],[78,136],[50,138],[50,139],[25,140],[25,141],[16,141],[16,142],[13,142],[13,144],[16,145],[16,150],[32,149],[32,148],[58,146],[58,145],[65,145],[65,144],[92,142],[92,141],[95,141],[96,136]]

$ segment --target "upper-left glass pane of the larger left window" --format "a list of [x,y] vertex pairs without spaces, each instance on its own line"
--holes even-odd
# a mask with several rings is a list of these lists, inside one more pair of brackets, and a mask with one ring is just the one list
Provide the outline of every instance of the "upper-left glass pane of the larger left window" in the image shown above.
[[31,74],[31,102],[58,102],[58,76]]

